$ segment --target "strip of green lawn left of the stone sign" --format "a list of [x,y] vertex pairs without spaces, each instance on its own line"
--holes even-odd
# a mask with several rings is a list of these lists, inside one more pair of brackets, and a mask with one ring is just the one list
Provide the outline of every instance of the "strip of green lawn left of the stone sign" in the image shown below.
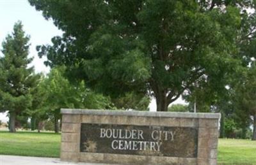
[[60,157],[60,134],[0,131],[0,154]]

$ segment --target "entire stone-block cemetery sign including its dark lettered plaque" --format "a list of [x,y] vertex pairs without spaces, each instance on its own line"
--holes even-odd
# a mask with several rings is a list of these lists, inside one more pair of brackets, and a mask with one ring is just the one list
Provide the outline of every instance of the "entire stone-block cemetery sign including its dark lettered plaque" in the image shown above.
[[216,165],[219,113],[62,109],[61,161]]

